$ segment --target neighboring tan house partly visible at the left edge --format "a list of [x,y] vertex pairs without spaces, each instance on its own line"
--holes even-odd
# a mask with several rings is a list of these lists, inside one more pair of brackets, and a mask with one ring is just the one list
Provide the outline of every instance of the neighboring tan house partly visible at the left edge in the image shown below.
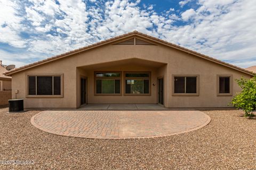
[[4,75],[6,65],[0,61],[0,106],[7,105],[12,98],[12,77]]

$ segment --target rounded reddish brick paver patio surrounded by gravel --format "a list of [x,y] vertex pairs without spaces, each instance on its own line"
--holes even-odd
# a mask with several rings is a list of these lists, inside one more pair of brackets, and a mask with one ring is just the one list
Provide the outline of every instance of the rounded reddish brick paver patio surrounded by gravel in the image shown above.
[[45,132],[94,139],[164,137],[203,128],[210,121],[200,111],[43,111],[31,118]]

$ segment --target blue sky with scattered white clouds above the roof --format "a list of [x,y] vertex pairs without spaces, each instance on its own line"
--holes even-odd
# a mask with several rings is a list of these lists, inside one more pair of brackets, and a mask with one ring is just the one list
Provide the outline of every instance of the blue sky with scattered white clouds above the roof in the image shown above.
[[0,60],[22,66],[138,30],[219,60],[256,65],[256,1],[0,1]]

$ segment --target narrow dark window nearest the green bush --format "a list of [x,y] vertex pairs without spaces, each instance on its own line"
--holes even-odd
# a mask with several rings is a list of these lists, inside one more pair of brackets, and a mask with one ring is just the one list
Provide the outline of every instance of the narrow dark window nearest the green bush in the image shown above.
[[231,75],[217,75],[217,95],[231,96]]

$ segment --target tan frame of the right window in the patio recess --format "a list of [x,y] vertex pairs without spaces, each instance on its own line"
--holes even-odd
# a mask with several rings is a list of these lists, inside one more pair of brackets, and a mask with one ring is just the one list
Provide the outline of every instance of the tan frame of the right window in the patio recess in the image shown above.
[[[132,73],[132,74],[143,74],[147,73],[148,77],[126,77],[125,74]],[[123,72],[123,89],[124,89],[124,96],[151,96],[151,72],[150,71],[124,71]],[[148,94],[126,94],[125,92],[125,81],[126,80],[148,80]]]

